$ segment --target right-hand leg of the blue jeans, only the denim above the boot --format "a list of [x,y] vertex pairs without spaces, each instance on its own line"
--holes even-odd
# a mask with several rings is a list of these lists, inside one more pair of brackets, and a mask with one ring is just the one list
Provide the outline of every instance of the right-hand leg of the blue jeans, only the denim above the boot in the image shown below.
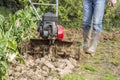
[[106,0],[94,0],[93,30],[101,32]]

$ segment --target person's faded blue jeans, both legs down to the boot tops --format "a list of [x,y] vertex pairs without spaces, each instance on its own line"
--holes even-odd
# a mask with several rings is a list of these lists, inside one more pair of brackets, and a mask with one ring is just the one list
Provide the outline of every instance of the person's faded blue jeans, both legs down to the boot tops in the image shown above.
[[93,30],[102,30],[102,19],[106,0],[83,0],[83,30],[90,30],[91,23]]

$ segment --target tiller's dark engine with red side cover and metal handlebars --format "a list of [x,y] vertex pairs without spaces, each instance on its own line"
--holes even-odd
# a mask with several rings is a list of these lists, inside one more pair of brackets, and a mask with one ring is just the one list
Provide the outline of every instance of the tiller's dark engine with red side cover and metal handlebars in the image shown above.
[[[58,20],[58,0],[56,0],[56,4],[34,3],[32,0],[29,0],[29,2],[34,9],[35,15],[39,21],[37,31],[40,33],[40,36],[43,39],[50,40],[52,44],[56,39],[62,40],[64,37],[63,27],[61,25],[57,25],[56,23]],[[56,13],[44,13],[43,17],[41,18],[35,5],[56,6]]]

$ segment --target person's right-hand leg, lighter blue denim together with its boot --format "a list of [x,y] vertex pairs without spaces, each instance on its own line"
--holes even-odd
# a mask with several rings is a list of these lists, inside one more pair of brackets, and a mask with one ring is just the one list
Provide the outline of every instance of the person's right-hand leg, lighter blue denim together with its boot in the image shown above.
[[91,42],[91,46],[88,49],[88,53],[94,53],[96,51],[96,47],[100,38],[100,32],[102,30],[102,19],[104,15],[104,9],[106,0],[93,0],[93,40]]

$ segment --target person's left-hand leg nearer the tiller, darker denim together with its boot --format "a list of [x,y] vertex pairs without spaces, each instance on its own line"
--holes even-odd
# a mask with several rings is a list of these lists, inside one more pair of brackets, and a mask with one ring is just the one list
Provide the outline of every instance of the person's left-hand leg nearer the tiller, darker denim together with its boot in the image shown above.
[[93,8],[92,8],[92,0],[83,0],[83,45],[81,48],[86,50],[89,47],[90,43],[90,29],[91,29],[91,21],[92,21],[92,14],[93,14]]

